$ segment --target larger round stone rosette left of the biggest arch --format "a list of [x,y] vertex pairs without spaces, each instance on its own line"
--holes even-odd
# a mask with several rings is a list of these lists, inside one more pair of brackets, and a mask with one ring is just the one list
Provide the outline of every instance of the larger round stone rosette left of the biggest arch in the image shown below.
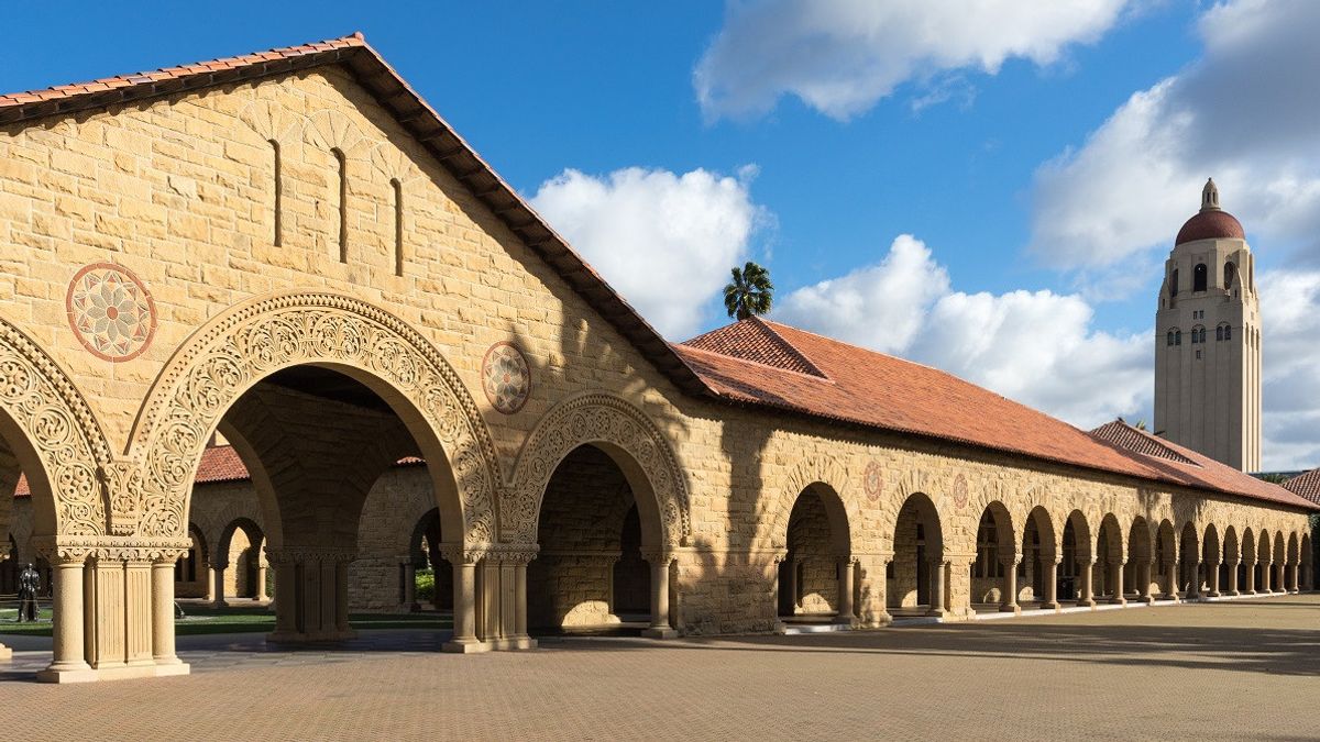
[[156,302],[132,271],[114,263],[83,267],[65,296],[69,326],[88,353],[111,363],[132,360],[152,345]]

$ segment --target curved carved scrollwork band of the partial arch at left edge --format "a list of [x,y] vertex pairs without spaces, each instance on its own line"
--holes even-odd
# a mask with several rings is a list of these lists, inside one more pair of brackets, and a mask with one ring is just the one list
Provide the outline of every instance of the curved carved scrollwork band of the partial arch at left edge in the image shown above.
[[[106,499],[96,469],[110,461],[106,437],[69,376],[3,320],[0,408],[41,459],[55,500],[55,531],[78,536],[104,533]],[[34,489],[33,495],[44,492]]]

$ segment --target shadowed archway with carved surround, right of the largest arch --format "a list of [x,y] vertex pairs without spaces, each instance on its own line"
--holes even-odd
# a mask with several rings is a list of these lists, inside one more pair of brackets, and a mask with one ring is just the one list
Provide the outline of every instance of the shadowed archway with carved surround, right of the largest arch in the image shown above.
[[642,411],[601,392],[561,401],[528,436],[513,483],[513,499],[502,512],[504,528],[536,555],[515,589],[533,623],[615,627],[622,623],[619,598],[639,609],[635,595],[644,589],[647,610],[634,614],[648,623],[643,635],[681,631],[671,619],[681,615],[671,588],[689,529],[686,481],[668,441]]

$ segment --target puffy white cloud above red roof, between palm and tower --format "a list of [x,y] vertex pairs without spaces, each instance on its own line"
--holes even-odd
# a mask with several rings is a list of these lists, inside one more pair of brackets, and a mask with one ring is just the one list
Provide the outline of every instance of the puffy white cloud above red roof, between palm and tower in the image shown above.
[[1084,428],[1151,407],[1150,333],[1096,330],[1076,294],[953,290],[911,235],[875,265],[792,292],[775,317],[944,368]]

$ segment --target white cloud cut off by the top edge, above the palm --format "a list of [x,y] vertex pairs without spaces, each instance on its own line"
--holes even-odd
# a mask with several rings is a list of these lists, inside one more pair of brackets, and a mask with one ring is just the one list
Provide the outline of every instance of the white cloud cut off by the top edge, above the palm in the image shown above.
[[904,82],[1036,65],[1111,28],[1130,0],[730,0],[693,73],[709,118],[764,114],[783,95],[847,119]]

